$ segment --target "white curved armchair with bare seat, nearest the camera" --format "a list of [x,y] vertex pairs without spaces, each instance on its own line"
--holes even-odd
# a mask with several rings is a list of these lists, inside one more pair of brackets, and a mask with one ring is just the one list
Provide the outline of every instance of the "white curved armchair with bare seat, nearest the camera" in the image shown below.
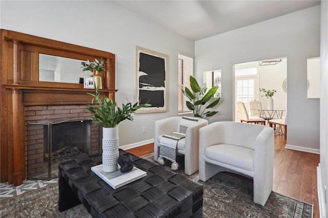
[[199,130],[199,179],[228,171],[253,178],[254,203],[264,206],[272,191],[274,132],[269,126],[215,122]]

